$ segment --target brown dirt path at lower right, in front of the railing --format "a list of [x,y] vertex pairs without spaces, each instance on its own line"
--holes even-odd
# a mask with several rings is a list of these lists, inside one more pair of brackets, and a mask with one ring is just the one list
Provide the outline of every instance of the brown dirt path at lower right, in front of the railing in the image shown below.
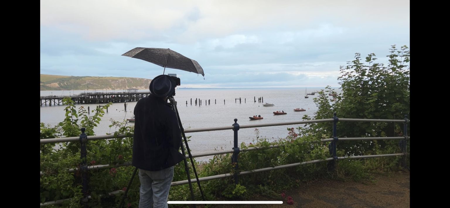
[[[324,179],[303,183],[285,193],[286,197],[292,196],[293,204],[288,204],[284,199],[283,204],[217,204],[213,208],[409,208],[410,172],[375,175],[374,181],[344,182]],[[247,200],[277,199],[257,197]]]

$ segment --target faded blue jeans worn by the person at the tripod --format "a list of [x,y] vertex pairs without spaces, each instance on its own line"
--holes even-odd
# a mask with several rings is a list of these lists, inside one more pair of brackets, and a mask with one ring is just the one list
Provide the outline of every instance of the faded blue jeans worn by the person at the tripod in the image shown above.
[[167,208],[173,166],[160,171],[146,171],[139,168],[139,208]]

